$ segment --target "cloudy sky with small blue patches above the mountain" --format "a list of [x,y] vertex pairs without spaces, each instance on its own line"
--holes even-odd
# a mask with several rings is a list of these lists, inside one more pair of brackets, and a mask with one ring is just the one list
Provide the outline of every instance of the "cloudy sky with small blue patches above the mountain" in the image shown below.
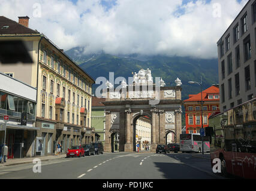
[[248,0],[0,0],[0,16],[83,54],[217,58],[216,42]]

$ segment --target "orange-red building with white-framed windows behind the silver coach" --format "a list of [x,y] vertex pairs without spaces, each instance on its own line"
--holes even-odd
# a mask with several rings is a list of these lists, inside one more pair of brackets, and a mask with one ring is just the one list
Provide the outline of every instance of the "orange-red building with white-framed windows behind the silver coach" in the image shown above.
[[[219,86],[203,90],[203,127],[208,127],[208,118],[213,112],[219,111]],[[184,100],[186,133],[200,133],[201,128],[201,92],[195,95],[189,95]]]

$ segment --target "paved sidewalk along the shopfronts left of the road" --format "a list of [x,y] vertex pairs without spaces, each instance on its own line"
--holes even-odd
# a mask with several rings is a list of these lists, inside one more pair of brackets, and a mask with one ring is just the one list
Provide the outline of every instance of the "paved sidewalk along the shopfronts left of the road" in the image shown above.
[[49,161],[49,160],[65,158],[65,157],[66,157],[66,154],[61,154],[61,156],[51,155],[51,156],[37,156],[37,157],[33,157],[33,158],[31,157],[31,158],[7,159],[6,162],[0,163],[0,167],[33,163],[33,160],[35,158],[40,159],[41,161]]

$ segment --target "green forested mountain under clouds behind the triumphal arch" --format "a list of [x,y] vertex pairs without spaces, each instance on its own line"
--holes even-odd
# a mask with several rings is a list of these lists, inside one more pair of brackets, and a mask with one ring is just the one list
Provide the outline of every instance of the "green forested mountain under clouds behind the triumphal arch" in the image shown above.
[[[76,51],[76,53],[78,52]],[[67,51],[66,54],[74,61],[77,61],[77,63],[80,63],[79,66],[89,73],[95,81],[100,76],[109,79],[109,72],[114,72],[115,78],[122,76],[128,81],[128,77],[133,76],[132,72],[138,73],[140,69],[147,68],[151,70],[153,79],[161,77],[166,86],[174,86],[174,81],[179,78],[182,81],[182,100],[187,99],[189,94],[197,94],[201,91],[199,85],[188,84],[188,81],[200,82],[200,76],[202,76],[203,90],[209,88],[212,84],[218,84],[217,59],[167,56],[149,57],[138,54],[113,56],[104,53],[76,56],[74,51]],[[97,86],[93,86],[93,92]],[[182,124],[184,122],[185,120],[182,120]]]

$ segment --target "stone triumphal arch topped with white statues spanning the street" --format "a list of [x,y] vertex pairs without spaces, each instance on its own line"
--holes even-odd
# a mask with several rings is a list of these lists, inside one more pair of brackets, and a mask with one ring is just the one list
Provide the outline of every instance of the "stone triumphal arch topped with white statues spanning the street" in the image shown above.
[[135,123],[146,116],[151,124],[151,146],[166,144],[168,133],[175,135],[179,143],[182,130],[182,83],[179,78],[173,87],[165,87],[162,78],[153,78],[149,69],[141,69],[129,78],[128,84],[122,81],[119,87],[107,81],[103,90],[106,113],[106,136],[104,150],[113,151],[113,134],[119,134],[119,151],[132,152],[136,149]]

